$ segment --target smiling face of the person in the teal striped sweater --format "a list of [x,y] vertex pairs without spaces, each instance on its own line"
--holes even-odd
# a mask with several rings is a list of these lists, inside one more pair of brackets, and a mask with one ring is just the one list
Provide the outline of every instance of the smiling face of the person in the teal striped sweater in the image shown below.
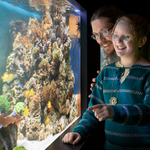
[[[114,37],[119,37],[117,40],[112,39],[114,48],[119,57],[130,57],[139,53],[139,42],[127,20],[121,20],[118,22],[113,35]],[[130,37],[128,42],[123,40],[126,39],[126,37]]]

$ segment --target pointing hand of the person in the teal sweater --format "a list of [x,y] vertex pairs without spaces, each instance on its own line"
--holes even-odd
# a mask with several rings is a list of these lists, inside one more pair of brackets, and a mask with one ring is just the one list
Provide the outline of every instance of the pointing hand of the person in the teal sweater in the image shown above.
[[97,104],[92,107],[89,107],[88,110],[93,110],[95,117],[99,121],[104,121],[106,119],[113,119],[113,110],[110,105]]

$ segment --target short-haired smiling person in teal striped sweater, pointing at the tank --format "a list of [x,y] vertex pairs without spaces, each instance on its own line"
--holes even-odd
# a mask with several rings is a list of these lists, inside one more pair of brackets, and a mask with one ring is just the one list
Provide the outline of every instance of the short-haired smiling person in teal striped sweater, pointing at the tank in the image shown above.
[[78,143],[105,120],[105,150],[150,149],[150,63],[139,53],[149,30],[138,15],[117,21],[112,41],[120,61],[101,71],[89,108],[63,142]]

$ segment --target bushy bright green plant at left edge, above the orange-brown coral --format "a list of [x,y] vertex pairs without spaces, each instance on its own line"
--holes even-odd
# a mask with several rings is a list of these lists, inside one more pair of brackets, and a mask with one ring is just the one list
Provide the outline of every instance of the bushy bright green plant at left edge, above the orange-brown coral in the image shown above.
[[0,95],[0,112],[6,113],[10,108],[10,102],[4,96]]

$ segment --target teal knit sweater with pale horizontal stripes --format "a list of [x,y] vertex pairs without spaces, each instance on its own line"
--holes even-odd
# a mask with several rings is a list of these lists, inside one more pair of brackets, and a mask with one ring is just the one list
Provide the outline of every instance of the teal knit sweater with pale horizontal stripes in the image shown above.
[[[117,97],[116,89],[123,69],[116,67],[115,63],[103,68],[97,77],[89,106],[109,104],[111,95]],[[121,83],[117,105],[110,106],[113,119],[105,121],[104,149],[150,150],[150,66],[133,65]],[[72,132],[78,132],[85,138],[100,125],[93,111],[87,109]]]

